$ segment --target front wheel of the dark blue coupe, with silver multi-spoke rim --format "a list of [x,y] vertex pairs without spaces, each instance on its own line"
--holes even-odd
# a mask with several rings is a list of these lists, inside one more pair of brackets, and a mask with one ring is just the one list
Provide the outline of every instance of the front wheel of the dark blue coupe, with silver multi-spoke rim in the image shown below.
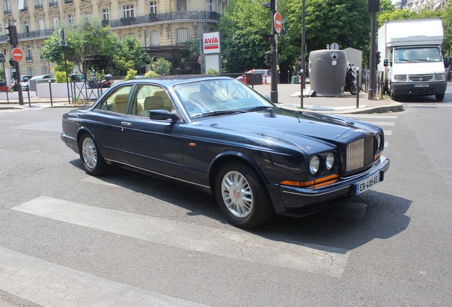
[[228,162],[217,173],[215,197],[227,220],[251,228],[274,214],[269,193],[256,171],[243,162]]

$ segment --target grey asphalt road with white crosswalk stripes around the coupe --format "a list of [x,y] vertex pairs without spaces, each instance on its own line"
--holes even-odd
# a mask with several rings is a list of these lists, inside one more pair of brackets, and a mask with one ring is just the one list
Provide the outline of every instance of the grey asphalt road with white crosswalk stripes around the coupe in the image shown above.
[[87,176],[67,109],[0,111],[0,306],[451,306],[452,94],[404,108],[350,115],[386,132],[375,189],[252,231],[182,185]]

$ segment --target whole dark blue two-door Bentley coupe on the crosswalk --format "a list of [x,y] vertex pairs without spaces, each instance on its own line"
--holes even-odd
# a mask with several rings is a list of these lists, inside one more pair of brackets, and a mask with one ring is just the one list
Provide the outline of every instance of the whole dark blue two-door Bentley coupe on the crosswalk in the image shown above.
[[122,166],[212,192],[233,225],[310,215],[384,178],[379,126],[276,107],[230,77],[120,82],[63,115],[87,173]]

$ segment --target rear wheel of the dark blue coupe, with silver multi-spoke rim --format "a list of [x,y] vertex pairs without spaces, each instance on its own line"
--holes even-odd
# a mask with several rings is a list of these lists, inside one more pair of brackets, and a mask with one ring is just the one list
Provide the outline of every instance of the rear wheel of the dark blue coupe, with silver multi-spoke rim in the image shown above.
[[87,173],[92,176],[98,176],[107,170],[107,163],[105,163],[104,157],[100,154],[99,148],[92,139],[92,136],[83,134],[80,137],[78,149],[80,160]]

